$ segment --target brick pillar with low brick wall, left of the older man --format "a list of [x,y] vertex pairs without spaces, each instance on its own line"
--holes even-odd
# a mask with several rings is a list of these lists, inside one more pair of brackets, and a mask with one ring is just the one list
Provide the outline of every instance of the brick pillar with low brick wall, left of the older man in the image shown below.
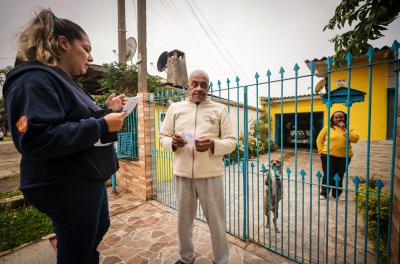
[[154,105],[149,107],[148,93],[138,95],[142,98],[137,106],[139,160],[119,161],[117,186],[147,200],[152,196],[150,140],[154,128],[149,124],[154,124]]

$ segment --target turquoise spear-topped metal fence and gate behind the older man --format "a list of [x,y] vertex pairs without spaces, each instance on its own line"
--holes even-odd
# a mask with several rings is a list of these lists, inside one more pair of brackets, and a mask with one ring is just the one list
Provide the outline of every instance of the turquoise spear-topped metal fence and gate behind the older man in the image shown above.
[[[271,71],[267,71],[266,81],[261,82],[261,76],[255,75],[255,83],[241,85],[236,78],[236,86],[231,87],[229,79],[226,88],[217,82],[218,89],[210,85],[210,96],[214,101],[227,105],[232,118],[236,118],[238,136],[237,149],[226,155],[224,159],[224,191],[226,209],[227,232],[243,240],[251,240],[278,254],[298,262],[312,263],[389,263],[391,241],[391,217],[393,204],[393,180],[396,148],[397,127],[397,98],[399,82],[399,44],[392,46],[393,56],[387,60],[374,62],[374,50],[370,49],[366,64],[352,66],[353,57],[347,56],[347,67],[336,69],[332,65],[332,58],[326,59],[326,72],[318,72],[327,76],[327,117],[325,125],[330,126],[329,117],[335,100],[331,98],[331,78],[333,73],[345,72],[347,75],[347,97],[343,102],[347,113],[347,127],[352,120],[350,107],[352,76],[355,69],[367,68],[369,77],[365,85],[368,86],[368,116],[367,138],[365,140],[365,164],[352,170],[349,169],[349,131],[346,131],[346,168],[343,186],[339,185],[340,176],[334,175],[334,185],[322,184],[323,172],[320,166],[319,155],[313,147],[315,94],[311,88],[309,96],[309,126],[310,144],[308,147],[298,145],[299,130],[299,80],[306,79],[311,87],[315,86],[316,64],[310,62],[310,73],[299,75],[300,67],[295,64],[293,76],[286,76],[285,70],[280,69],[278,78],[273,80]],[[390,162],[390,176],[386,179],[379,175],[371,177],[371,164],[374,157],[371,154],[373,140],[371,140],[372,98],[374,96],[373,71],[376,65],[394,65],[394,117],[392,126],[391,154],[387,157]],[[280,92],[279,98],[272,98],[272,85],[276,85]],[[294,100],[294,145],[285,146],[285,92],[291,91]],[[253,131],[249,124],[250,91],[256,96]],[[267,94],[266,105],[259,108],[259,94]],[[184,91],[160,92],[154,98],[149,97],[151,107],[157,116],[154,117],[152,155],[153,192],[157,200],[175,208],[174,181],[172,178],[173,153],[165,152],[158,141],[157,131],[162,122],[162,114],[173,101],[183,99]],[[236,95],[236,101],[231,100]],[[239,103],[243,102],[243,103]],[[274,150],[271,140],[272,103],[279,102],[280,116],[275,123],[275,133],[280,133],[279,149]],[[384,106],[382,106],[384,107]],[[150,112],[150,111],[149,111]],[[267,114],[266,130],[261,134],[261,113]],[[363,120],[358,120],[363,122]],[[278,130],[280,125],[280,130]],[[330,139],[330,129],[328,129]],[[255,143],[254,143],[254,142]],[[266,153],[262,152],[262,145],[267,144]],[[374,143],[379,144],[379,143]],[[255,152],[251,152],[255,148]],[[328,140],[328,154],[330,156],[330,140]],[[251,152],[251,155],[250,155]],[[255,154],[254,154],[255,153]],[[354,157],[357,159],[360,157]],[[280,161],[280,168],[271,166],[275,160]],[[327,159],[327,171],[330,164]],[[354,161],[352,161],[354,164]],[[374,164],[377,164],[376,162]],[[379,171],[379,169],[378,169]],[[383,176],[383,175],[381,175]],[[383,182],[386,182],[384,186]],[[344,201],[336,195],[322,200],[319,192],[326,187],[331,192],[343,191]],[[199,219],[204,220],[201,207],[198,206]]]

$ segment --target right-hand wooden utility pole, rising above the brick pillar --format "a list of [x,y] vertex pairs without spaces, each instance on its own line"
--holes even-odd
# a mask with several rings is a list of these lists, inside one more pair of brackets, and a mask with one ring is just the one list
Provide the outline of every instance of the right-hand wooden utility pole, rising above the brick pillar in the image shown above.
[[138,18],[138,92],[147,92],[146,0],[137,1]]

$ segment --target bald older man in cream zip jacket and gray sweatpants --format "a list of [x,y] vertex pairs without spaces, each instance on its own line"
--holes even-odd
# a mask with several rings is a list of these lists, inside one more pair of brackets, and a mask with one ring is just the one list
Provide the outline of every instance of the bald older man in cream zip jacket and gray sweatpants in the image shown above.
[[210,228],[215,263],[229,261],[222,159],[235,149],[236,137],[225,106],[211,101],[208,89],[208,74],[203,70],[192,72],[190,96],[169,107],[160,131],[163,147],[174,151],[180,254],[177,264],[195,260],[192,229],[197,199]]

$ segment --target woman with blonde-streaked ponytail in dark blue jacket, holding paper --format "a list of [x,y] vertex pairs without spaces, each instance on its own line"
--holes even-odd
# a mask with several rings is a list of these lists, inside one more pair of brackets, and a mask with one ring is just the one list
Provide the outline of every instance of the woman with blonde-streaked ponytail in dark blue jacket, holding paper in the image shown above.
[[57,263],[98,263],[110,220],[105,181],[118,169],[112,138],[125,96],[102,109],[72,76],[93,61],[76,23],[42,9],[20,34],[18,65],[3,94],[14,144],[22,154],[20,190],[52,220]]

